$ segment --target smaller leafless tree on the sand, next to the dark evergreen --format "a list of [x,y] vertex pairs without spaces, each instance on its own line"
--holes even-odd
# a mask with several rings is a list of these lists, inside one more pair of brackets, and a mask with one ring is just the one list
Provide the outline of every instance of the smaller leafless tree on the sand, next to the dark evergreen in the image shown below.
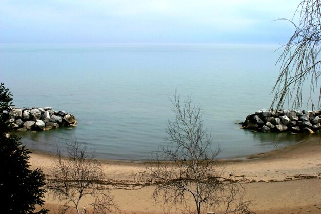
[[[89,210],[108,213],[116,209],[113,196],[100,184],[104,174],[95,153],[88,152],[86,146],[79,145],[77,141],[67,146],[67,157],[57,146],[52,181],[48,185],[53,196],[64,201],[61,212],[71,209],[78,214],[89,213]],[[91,202],[82,204],[85,198]]]

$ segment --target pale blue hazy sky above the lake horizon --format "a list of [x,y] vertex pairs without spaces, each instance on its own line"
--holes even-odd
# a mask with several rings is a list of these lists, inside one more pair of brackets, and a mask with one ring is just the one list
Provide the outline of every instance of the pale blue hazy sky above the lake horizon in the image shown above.
[[0,0],[0,43],[284,43],[300,0]]

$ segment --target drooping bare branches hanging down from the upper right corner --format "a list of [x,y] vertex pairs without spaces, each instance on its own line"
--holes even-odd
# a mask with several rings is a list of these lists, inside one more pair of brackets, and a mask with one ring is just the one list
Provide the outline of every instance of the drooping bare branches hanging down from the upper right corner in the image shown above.
[[[298,17],[298,24],[294,23]],[[273,87],[275,92],[271,108],[283,108],[284,103],[289,100],[292,108],[299,109],[303,105],[302,91],[305,90],[304,83],[310,82],[311,94],[318,91],[318,80],[321,75],[320,65],[320,41],[321,41],[321,1],[304,0],[298,5],[292,20],[295,32],[284,45],[284,51],[277,63],[281,63],[281,71]],[[321,88],[318,105],[320,105]],[[308,106],[307,103],[307,106]],[[320,106],[318,106],[319,108]]]

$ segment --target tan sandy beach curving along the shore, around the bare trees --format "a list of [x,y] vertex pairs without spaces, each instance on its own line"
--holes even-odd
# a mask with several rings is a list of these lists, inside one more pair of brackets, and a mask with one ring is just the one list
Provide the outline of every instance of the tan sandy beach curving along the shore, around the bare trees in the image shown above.
[[[30,164],[47,174],[52,161],[52,155],[33,152]],[[154,187],[136,186],[134,176],[144,170],[144,163],[101,162],[122,213],[163,213],[163,204],[151,198]],[[317,135],[294,146],[219,163],[242,180],[256,213],[321,213],[321,138]],[[55,213],[59,202],[49,194],[45,200],[45,206]]]

